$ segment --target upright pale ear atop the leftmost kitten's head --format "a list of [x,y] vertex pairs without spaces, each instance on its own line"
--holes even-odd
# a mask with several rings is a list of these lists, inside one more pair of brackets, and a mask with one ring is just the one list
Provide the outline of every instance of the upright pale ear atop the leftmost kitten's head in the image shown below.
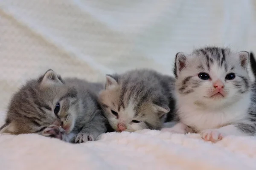
[[53,70],[48,70],[44,76],[39,78],[41,85],[63,84],[61,77]]

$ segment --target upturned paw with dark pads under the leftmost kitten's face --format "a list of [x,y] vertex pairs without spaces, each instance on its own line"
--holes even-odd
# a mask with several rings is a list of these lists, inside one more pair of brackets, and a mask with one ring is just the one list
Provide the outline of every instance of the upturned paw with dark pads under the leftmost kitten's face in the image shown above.
[[64,132],[65,130],[61,127],[58,127],[56,125],[49,125],[47,128],[44,129],[42,135],[62,140],[62,135],[64,134]]

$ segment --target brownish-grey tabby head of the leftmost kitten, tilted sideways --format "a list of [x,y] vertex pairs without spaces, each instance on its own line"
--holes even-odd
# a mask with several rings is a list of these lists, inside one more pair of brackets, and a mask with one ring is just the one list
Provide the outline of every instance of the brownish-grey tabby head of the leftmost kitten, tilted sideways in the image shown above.
[[63,83],[54,71],[28,82],[12,98],[1,133],[39,133],[49,125],[70,133],[76,122],[77,91]]

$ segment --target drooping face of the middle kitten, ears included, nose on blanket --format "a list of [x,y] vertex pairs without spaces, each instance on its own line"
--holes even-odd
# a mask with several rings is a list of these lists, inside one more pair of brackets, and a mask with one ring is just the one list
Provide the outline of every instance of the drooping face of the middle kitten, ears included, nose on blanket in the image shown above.
[[131,91],[128,89],[124,91],[122,84],[109,76],[107,76],[106,89],[99,94],[99,101],[111,127],[119,132],[133,132],[146,128],[159,129],[160,117],[168,112],[150,101],[138,102],[131,95]]

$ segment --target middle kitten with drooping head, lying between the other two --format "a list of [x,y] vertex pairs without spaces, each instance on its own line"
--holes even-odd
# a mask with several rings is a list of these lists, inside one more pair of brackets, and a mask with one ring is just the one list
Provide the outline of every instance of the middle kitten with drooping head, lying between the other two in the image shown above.
[[174,107],[173,86],[174,78],[147,69],[106,75],[99,102],[111,127],[118,132],[159,130],[166,113]]

